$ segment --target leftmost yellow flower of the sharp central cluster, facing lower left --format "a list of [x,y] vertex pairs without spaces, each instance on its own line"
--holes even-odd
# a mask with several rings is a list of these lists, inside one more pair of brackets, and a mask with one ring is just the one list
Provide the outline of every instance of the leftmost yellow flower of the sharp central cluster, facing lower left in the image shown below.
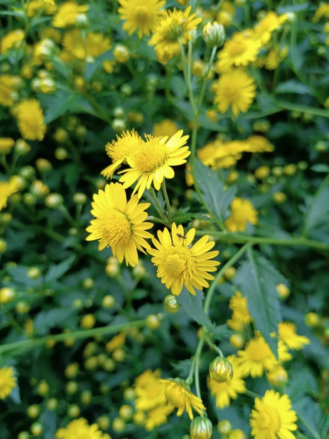
[[153,235],[146,230],[153,224],[146,223],[147,212],[144,212],[150,203],[138,204],[135,195],[127,202],[126,192],[120,183],[110,183],[94,194],[90,226],[86,228],[90,233],[87,241],[99,241],[99,250],[111,247],[113,256],[119,262],[125,258],[126,265],[138,264],[137,250],[145,253],[143,248],[149,249],[149,244],[144,238]]

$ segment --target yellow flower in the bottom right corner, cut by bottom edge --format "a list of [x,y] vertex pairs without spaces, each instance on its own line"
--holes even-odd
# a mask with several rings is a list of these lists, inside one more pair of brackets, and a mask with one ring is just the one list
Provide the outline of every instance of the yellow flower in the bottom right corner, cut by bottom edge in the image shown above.
[[291,431],[297,430],[297,416],[290,409],[287,395],[267,390],[262,399],[255,398],[255,410],[251,410],[251,435],[255,439],[294,439]]

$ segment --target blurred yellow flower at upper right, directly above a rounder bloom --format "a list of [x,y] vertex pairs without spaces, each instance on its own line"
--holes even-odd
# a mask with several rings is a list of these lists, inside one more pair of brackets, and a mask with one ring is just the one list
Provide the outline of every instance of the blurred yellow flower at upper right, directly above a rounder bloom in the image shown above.
[[217,54],[219,60],[216,62],[216,72],[227,72],[233,65],[246,66],[256,61],[261,45],[250,29],[234,33]]

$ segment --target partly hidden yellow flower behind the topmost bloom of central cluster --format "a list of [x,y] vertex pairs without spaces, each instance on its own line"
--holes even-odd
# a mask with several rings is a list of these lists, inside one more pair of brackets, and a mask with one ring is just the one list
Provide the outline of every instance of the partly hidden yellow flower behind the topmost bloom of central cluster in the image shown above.
[[112,178],[115,170],[122,164],[127,163],[127,157],[140,143],[144,143],[135,130],[124,131],[117,140],[107,143],[105,146],[106,154],[112,158],[112,165],[106,166],[101,174],[106,178]]

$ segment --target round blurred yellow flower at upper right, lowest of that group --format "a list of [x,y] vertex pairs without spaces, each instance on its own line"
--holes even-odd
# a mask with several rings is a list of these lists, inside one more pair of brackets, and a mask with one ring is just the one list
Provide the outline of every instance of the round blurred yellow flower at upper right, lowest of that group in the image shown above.
[[252,76],[243,69],[233,69],[218,79],[214,104],[217,104],[221,113],[225,113],[229,107],[235,116],[240,112],[245,113],[254,101],[256,88]]

